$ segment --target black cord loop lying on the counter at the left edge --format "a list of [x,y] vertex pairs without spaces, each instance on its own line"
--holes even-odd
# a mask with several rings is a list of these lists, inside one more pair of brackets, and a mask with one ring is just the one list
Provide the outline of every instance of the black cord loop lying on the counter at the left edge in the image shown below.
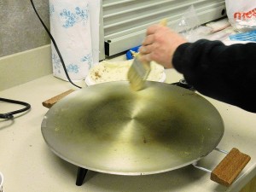
[[26,110],[31,108],[31,105],[26,103],[26,102],[20,102],[20,101],[11,100],[11,99],[5,99],[5,98],[2,98],[2,97],[0,97],[0,101],[2,101],[2,102],[10,102],[10,103],[14,103],[14,104],[19,104],[19,105],[25,106],[25,108],[21,108],[19,110],[12,111],[12,112],[9,112],[9,113],[0,113],[0,119],[13,119],[14,118],[14,114],[25,112]]

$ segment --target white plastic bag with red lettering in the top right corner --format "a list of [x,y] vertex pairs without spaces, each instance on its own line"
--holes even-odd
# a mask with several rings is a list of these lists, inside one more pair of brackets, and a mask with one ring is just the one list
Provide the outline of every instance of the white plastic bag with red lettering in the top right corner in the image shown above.
[[255,0],[225,0],[230,24],[238,32],[256,30]]

